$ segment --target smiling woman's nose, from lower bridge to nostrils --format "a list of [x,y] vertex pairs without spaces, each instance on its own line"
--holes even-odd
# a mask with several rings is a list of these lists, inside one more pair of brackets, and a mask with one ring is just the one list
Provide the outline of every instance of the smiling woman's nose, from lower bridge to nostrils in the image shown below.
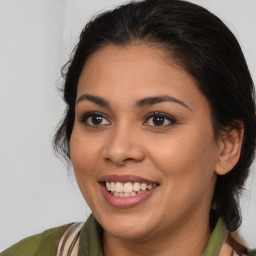
[[113,130],[104,146],[103,157],[119,166],[127,162],[142,161],[145,155],[138,132],[131,131],[128,127]]

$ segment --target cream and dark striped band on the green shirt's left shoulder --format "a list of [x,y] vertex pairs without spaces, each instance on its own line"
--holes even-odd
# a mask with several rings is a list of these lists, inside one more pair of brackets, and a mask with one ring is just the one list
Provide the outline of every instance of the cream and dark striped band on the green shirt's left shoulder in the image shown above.
[[57,256],[77,256],[80,230],[84,223],[76,222],[70,225],[62,235]]

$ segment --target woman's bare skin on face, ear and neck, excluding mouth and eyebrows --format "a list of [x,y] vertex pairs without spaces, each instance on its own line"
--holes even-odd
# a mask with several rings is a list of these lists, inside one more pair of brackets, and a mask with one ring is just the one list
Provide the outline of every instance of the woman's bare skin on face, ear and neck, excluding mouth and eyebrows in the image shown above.
[[[92,54],[77,99],[84,94],[109,102],[104,107],[80,99],[70,140],[78,185],[104,229],[104,255],[182,256],[188,248],[189,255],[200,255],[211,233],[217,174],[237,162],[242,132],[216,141],[209,102],[196,81],[170,58],[167,62],[161,50],[143,43],[105,46]],[[159,95],[187,107],[175,102],[136,106],[142,98]],[[102,123],[81,120],[90,111],[102,113]],[[155,126],[153,117],[147,118],[154,112],[176,121],[164,119]],[[159,187],[141,204],[119,209],[104,199],[98,183],[111,174],[140,176]]]

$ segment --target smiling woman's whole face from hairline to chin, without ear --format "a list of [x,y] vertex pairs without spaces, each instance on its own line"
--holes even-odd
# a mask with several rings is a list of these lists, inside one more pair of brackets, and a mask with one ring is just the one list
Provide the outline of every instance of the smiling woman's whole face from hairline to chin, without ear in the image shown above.
[[106,46],[89,57],[70,151],[106,233],[140,239],[208,221],[219,154],[209,103],[162,51]]

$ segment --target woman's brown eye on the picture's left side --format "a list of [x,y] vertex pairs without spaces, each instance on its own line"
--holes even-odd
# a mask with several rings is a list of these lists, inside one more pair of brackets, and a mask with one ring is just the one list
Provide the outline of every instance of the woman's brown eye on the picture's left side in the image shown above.
[[79,121],[84,123],[87,126],[95,126],[95,127],[111,124],[109,120],[99,112],[85,113],[80,117]]

